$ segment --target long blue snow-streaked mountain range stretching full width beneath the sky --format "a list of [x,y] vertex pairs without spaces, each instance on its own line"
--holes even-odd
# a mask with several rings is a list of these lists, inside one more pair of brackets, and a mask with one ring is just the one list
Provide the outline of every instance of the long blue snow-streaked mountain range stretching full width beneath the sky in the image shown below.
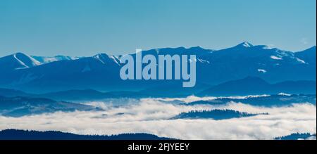
[[[122,80],[119,76],[121,56],[110,56],[106,53],[92,57],[41,57],[14,53],[0,58],[0,87],[34,94],[73,89],[144,91],[144,94],[149,91],[152,91],[152,94],[164,94],[168,89],[170,93],[178,95],[197,94],[205,90],[201,94],[216,94],[218,89],[228,91],[230,87],[223,86],[230,85],[224,83],[246,78],[251,79],[250,82],[240,85],[232,83],[235,85],[231,85],[231,91],[242,85],[252,91],[257,84],[261,84],[264,92],[271,91],[274,87],[284,87],[287,90],[287,86],[299,85],[300,90],[289,92],[311,93],[311,87],[316,87],[316,46],[293,52],[242,42],[222,50],[202,49],[197,46],[188,49],[179,47],[142,51],[143,56],[147,54],[195,54],[197,86],[184,89],[180,80]],[[259,79],[259,83],[254,83],[255,81],[248,77]]]

